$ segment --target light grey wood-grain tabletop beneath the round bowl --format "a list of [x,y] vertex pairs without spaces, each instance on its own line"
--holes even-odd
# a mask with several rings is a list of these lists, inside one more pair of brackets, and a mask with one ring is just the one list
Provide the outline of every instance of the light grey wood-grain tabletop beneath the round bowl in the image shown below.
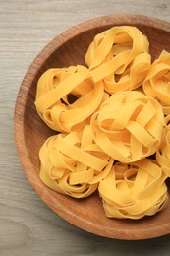
[[35,194],[16,152],[14,106],[31,61],[58,33],[116,13],[170,22],[170,0],[0,0],[0,256],[170,255],[170,235],[121,241],[95,236],[62,220]]

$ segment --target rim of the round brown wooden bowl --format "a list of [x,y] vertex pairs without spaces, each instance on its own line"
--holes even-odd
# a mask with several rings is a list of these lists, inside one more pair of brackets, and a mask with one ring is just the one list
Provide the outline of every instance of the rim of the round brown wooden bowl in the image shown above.
[[[102,24],[101,24],[101,20],[102,20]],[[139,15],[139,14],[113,14],[113,15],[99,16],[99,17],[86,20],[82,23],[79,23],[71,27],[65,32],[61,32],[58,35],[56,35],[45,47],[43,47],[40,50],[40,52],[37,54],[37,56],[34,58],[32,63],[28,67],[28,71],[24,76],[24,79],[19,88],[18,96],[16,98],[15,109],[14,109],[14,138],[15,138],[18,157],[26,176],[28,177],[29,183],[31,184],[32,188],[36,191],[38,196],[41,198],[41,200],[46,205],[48,205],[48,207],[51,208],[53,211],[54,211],[53,206],[55,204],[55,207],[57,208],[57,211],[54,211],[55,213],[57,213],[62,219],[84,229],[85,231],[94,233],[96,235],[109,237],[109,238],[129,239],[129,240],[147,239],[147,238],[153,238],[153,237],[168,234],[170,233],[170,225],[163,224],[161,226],[157,226],[156,232],[153,228],[152,234],[140,229],[139,232],[136,233],[135,235],[134,235],[134,230],[132,232],[130,230],[127,235],[126,230],[115,229],[114,232],[113,230],[105,230],[105,233],[103,235],[103,228],[99,224],[88,223],[87,225],[84,219],[82,219],[80,216],[75,216],[72,212],[69,212],[69,214],[66,215],[66,209],[63,208],[63,206],[59,202],[56,202],[55,197],[52,194],[50,194],[49,190],[48,189],[46,189],[45,191],[43,190],[43,193],[42,193],[42,189],[43,189],[42,184],[36,183],[36,181],[38,180],[35,180],[34,178],[32,178],[33,174],[30,170],[33,168],[33,165],[30,162],[28,157],[28,149],[26,147],[21,146],[21,142],[22,142],[22,145],[25,145],[25,126],[24,126],[25,107],[27,102],[26,99],[29,93],[29,88],[33,82],[34,77],[39,72],[40,67],[45,63],[46,59],[50,58],[50,56],[56,51],[56,49],[59,48],[63,43],[74,38],[81,32],[86,32],[94,28],[99,28],[101,25],[103,27],[109,26],[109,25],[113,26],[113,23],[114,23],[114,26],[120,25],[121,23],[124,23],[124,24],[131,23],[131,25],[133,26],[137,24],[139,21],[140,21],[140,25],[148,25],[158,30],[161,29],[166,32],[167,31],[170,32],[170,23],[167,21],[163,21],[161,19]],[[49,195],[50,195],[50,201],[47,200]],[[77,219],[76,222],[75,222],[75,218]]]

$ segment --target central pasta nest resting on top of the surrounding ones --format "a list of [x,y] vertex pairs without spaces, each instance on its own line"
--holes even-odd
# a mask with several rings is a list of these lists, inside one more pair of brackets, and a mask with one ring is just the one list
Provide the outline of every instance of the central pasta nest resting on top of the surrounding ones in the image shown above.
[[121,162],[154,154],[160,145],[164,124],[160,104],[137,91],[110,96],[91,118],[96,144]]

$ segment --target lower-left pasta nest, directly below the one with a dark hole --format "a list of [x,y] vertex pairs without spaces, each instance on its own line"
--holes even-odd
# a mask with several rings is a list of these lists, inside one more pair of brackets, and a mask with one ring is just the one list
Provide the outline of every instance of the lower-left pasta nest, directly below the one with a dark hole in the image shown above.
[[50,137],[39,152],[40,178],[53,190],[75,198],[93,193],[113,165],[93,141],[89,125],[81,132]]

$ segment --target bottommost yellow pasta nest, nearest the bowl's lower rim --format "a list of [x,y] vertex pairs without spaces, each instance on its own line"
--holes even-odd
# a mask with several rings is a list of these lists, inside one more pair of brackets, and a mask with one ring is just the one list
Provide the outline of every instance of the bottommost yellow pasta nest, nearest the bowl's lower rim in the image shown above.
[[168,200],[165,179],[153,160],[115,164],[98,187],[106,216],[140,219],[159,212]]

